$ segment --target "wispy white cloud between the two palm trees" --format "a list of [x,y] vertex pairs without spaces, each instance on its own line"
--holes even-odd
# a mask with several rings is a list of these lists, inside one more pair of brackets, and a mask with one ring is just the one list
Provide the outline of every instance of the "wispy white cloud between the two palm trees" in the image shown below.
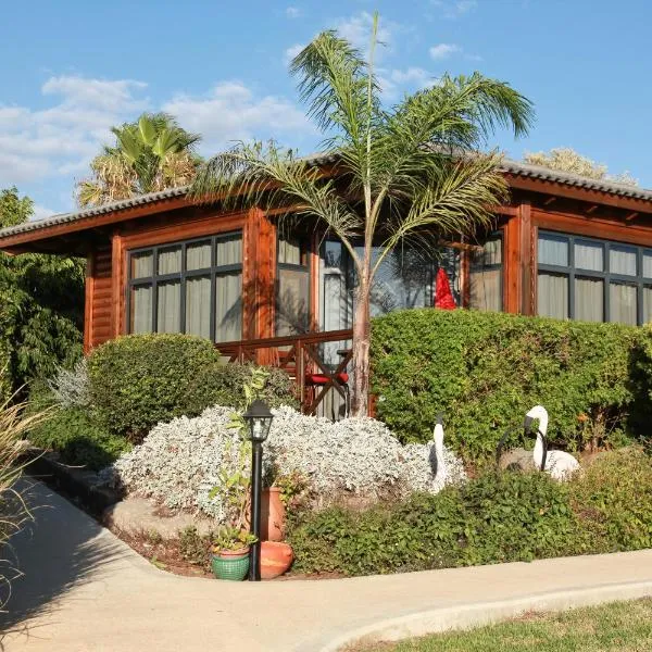
[[255,97],[241,82],[222,82],[205,96],[176,95],[162,106],[179,124],[202,135],[202,149],[214,153],[234,140],[313,134],[305,114],[276,96]]

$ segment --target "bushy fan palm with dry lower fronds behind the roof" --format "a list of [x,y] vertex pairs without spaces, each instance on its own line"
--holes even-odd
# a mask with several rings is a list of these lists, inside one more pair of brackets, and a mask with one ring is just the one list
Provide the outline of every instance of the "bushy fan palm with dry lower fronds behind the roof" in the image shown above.
[[201,160],[199,136],[178,126],[166,113],[143,113],[137,122],[111,129],[114,147],[104,147],[90,168],[92,178],[78,184],[82,206],[127,199],[189,184]]

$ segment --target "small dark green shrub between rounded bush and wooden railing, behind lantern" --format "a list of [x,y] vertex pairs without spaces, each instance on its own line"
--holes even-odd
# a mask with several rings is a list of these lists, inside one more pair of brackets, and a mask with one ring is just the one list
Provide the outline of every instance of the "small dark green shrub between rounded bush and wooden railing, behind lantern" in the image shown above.
[[[195,416],[212,405],[242,405],[243,386],[251,378],[252,364],[213,363],[199,369],[197,377],[188,387],[183,399],[185,414]],[[280,405],[299,406],[293,391],[292,380],[283,369],[264,367],[268,374],[265,388],[260,398],[271,408]]]

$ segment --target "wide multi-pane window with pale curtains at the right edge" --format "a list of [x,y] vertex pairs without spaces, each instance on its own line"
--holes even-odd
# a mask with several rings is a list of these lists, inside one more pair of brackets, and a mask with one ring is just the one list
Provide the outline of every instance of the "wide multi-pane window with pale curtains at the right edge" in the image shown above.
[[652,319],[652,249],[539,233],[540,315],[585,322]]

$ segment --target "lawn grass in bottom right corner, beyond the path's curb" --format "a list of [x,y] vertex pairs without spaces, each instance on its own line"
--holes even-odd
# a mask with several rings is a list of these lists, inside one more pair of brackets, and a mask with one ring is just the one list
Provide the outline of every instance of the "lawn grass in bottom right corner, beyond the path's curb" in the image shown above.
[[349,652],[648,652],[652,599],[614,602]]

